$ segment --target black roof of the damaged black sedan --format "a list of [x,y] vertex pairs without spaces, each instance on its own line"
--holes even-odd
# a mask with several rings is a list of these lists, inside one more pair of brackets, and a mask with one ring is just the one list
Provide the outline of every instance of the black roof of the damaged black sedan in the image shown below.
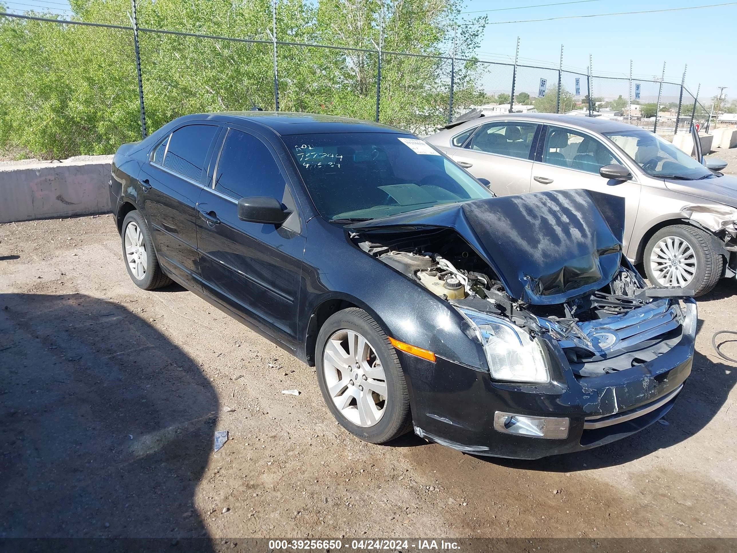
[[290,134],[318,133],[402,133],[402,129],[381,123],[323,114],[298,114],[288,111],[224,111],[214,114],[196,114],[191,119],[206,118],[211,121],[249,122],[268,127],[275,133]]

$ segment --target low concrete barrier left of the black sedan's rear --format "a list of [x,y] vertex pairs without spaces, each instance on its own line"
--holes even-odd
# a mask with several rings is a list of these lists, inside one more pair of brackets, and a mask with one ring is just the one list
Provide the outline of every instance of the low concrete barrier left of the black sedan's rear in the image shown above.
[[0,223],[110,212],[113,156],[0,164]]

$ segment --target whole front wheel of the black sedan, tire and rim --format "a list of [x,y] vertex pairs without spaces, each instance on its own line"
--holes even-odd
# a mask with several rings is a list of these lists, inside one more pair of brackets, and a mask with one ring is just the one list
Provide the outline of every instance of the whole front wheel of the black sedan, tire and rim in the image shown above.
[[315,364],[326,405],[340,425],[374,444],[411,428],[402,366],[387,335],[366,311],[338,311],[318,334]]

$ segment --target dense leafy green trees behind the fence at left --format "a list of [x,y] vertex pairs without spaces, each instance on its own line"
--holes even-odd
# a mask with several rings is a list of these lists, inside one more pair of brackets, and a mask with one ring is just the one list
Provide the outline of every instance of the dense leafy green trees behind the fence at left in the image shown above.
[[[447,121],[447,55],[461,0],[279,0],[279,107],[380,119],[415,132]],[[128,26],[130,0],[71,0],[71,18]],[[139,0],[139,27],[270,41],[271,1]],[[478,104],[489,69],[474,52],[485,18],[458,27],[454,106]],[[148,131],[203,111],[273,109],[273,46],[140,32]],[[140,138],[132,33],[0,18],[0,149],[41,157],[112,153]]]

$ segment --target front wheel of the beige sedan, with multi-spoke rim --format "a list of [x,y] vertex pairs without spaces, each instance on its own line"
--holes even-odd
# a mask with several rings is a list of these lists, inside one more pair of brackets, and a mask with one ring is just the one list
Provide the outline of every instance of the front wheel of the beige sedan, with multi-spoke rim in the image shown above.
[[654,285],[693,288],[703,296],[722,278],[724,258],[711,236],[689,225],[666,226],[653,234],[643,252],[643,265]]

